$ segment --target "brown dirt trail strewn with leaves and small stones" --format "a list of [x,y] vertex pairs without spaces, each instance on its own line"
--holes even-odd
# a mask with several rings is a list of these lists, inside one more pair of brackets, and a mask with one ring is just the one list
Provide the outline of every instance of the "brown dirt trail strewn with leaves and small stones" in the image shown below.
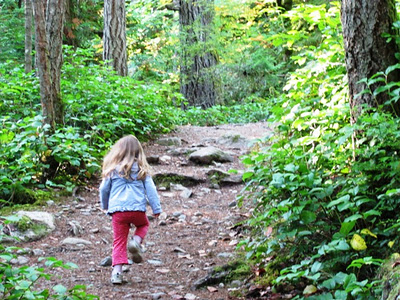
[[[100,266],[111,255],[111,218],[99,207],[98,184],[81,188],[78,197],[43,207],[56,216],[57,228],[39,241],[25,243],[23,247],[39,249],[41,256],[56,257],[72,262],[78,269],[57,268],[51,283],[67,287],[86,285],[87,292],[100,299],[237,299],[232,296],[235,288],[229,284],[215,284],[194,290],[193,283],[206,276],[216,266],[223,266],[236,255],[235,248],[241,236],[234,225],[247,218],[244,208],[234,205],[243,183],[215,187],[206,180],[210,168],[224,171],[244,170],[240,157],[247,147],[232,147],[219,141],[226,135],[241,135],[248,140],[265,136],[270,129],[266,123],[221,125],[214,127],[182,126],[165,137],[179,137],[181,148],[215,146],[229,151],[233,162],[217,166],[199,166],[177,152],[176,146],[161,146],[155,142],[144,143],[148,157],[159,157],[153,164],[153,173],[178,173],[203,178],[204,181],[188,187],[190,198],[181,197],[180,191],[159,188],[159,195],[166,220],[151,220],[144,241],[146,252],[141,264],[125,268],[124,283],[110,282],[111,267]],[[175,149],[174,149],[175,148]],[[179,152],[179,151],[178,151]],[[148,210],[151,216],[151,209]],[[75,226],[76,236],[72,234]],[[133,233],[133,230],[132,230]],[[62,243],[67,237],[82,238],[90,244],[68,246]],[[38,256],[29,257],[29,263],[42,266]]]

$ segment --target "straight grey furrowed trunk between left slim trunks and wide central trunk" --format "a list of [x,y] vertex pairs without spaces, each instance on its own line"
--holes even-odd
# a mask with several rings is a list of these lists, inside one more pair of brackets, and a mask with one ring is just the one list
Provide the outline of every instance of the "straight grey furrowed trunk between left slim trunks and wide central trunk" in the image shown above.
[[128,74],[125,0],[104,1],[103,59],[121,76]]

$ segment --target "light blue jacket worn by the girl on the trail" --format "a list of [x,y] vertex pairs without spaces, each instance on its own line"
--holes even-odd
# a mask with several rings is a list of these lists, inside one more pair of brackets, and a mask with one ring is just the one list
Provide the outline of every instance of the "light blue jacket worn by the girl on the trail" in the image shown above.
[[147,203],[153,214],[161,213],[160,198],[150,176],[138,180],[139,167],[134,163],[131,171],[132,180],[121,177],[116,170],[100,184],[100,205],[111,215],[117,211],[146,211]]

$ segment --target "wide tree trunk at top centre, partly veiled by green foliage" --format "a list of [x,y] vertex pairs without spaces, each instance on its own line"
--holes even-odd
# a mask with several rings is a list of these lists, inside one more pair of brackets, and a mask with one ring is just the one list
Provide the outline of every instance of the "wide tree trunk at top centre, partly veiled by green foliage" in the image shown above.
[[215,105],[218,93],[214,67],[218,63],[212,51],[213,0],[181,0],[181,87],[189,106]]

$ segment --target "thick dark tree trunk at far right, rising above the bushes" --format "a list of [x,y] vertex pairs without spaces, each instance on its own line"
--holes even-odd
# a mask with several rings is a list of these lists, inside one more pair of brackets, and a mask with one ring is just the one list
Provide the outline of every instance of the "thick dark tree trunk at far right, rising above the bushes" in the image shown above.
[[[377,107],[389,99],[385,93],[357,96],[367,87],[358,81],[396,63],[398,47],[394,39],[387,43],[382,37],[383,33],[394,33],[392,25],[396,18],[395,0],[342,0],[341,21],[353,122],[361,114],[363,105]],[[399,81],[399,75],[392,72],[389,80]],[[374,91],[380,84],[370,88]],[[394,103],[396,114],[400,112],[399,104]]]

